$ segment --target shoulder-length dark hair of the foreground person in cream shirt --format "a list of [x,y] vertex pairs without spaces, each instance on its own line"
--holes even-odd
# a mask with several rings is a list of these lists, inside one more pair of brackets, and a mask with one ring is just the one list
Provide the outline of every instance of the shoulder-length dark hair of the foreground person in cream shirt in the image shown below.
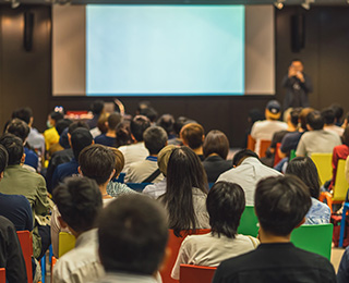
[[244,210],[244,192],[240,185],[217,182],[209,190],[206,207],[213,234],[234,238]]

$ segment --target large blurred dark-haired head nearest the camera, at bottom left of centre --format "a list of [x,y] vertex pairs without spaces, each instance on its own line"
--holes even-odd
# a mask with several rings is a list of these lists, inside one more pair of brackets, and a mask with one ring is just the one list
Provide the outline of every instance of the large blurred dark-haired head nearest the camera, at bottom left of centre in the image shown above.
[[166,211],[156,200],[120,196],[101,211],[98,227],[99,257],[107,272],[153,275],[159,270],[168,225]]

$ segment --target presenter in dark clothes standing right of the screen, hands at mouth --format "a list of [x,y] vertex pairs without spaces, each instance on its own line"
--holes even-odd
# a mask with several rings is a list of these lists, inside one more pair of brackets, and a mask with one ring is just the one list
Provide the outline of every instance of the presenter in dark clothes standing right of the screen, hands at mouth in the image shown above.
[[286,88],[284,110],[291,107],[309,107],[308,94],[313,91],[313,84],[303,70],[303,63],[299,59],[292,60],[288,67],[288,74],[282,81],[282,87]]

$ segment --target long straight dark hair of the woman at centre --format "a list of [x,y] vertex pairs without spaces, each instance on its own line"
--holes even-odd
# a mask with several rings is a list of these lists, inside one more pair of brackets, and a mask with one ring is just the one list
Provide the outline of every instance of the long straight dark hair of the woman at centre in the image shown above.
[[207,176],[197,155],[189,147],[176,148],[167,165],[167,188],[161,200],[169,212],[169,227],[176,236],[196,229],[192,188],[207,194]]

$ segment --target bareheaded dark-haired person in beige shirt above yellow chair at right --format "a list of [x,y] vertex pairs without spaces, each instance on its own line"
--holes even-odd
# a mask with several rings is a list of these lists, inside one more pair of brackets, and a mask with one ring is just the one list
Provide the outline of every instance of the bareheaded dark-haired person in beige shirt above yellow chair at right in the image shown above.
[[310,112],[306,115],[306,127],[299,140],[296,155],[311,156],[313,152],[333,152],[335,146],[341,144],[337,134],[324,131],[324,119],[318,111]]

